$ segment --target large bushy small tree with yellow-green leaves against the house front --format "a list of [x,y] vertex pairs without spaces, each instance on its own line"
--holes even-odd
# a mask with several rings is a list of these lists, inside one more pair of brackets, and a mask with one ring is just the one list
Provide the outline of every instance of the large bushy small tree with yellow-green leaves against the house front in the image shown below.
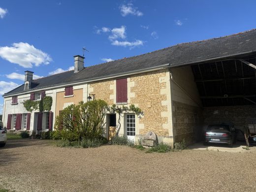
[[108,105],[101,99],[69,105],[57,116],[55,129],[68,140],[100,136],[107,111]]

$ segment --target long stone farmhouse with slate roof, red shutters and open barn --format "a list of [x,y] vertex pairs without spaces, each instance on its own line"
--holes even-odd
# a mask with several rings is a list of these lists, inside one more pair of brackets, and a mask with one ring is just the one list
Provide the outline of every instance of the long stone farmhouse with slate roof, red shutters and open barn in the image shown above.
[[[25,109],[26,100],[50,96],[48,110]],[[243,129],[256,116],[256,30],[178,44],[151,53],[94,66],[74,56],[74,70],[33,79],[6,93],[3,125],[12,130],[52,130],[56,116],[68,105],[103,99],[109,105],[134,104],[144,115],[127,113],[120,134],[135,141],[154,131],[173,146],[202,139],[204,125],[233,123]],[[117,125],[107,114],[105,136]]]

